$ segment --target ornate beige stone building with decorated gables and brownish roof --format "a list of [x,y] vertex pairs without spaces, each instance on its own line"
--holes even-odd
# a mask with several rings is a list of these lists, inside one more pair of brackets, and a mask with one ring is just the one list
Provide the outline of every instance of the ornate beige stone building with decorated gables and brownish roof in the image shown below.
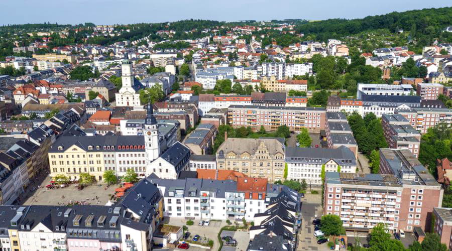
[[227,138],[216,152],[218,169],[234,170],[273,183],[284,178],[284,142],[277,138]]

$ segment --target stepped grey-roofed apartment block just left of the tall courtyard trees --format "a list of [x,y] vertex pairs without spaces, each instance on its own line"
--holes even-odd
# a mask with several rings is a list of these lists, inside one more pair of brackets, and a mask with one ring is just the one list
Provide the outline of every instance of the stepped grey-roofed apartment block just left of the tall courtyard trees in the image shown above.
[[343,112],[326,112],[325,133],[328,148],[345,146],[358,156],[358,145],[353,137],[352,129]]

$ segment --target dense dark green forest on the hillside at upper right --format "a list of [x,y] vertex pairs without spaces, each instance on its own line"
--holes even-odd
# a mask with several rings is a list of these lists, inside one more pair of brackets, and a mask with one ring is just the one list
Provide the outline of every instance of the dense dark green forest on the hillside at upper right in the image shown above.
[[315,35],[317,40],[341,39],[345,36],[388,29],[397,33],[400,29],[409,31],[419,46],[438,42],[452,42],[452,33],[442,32],[452,24],[452,8],[423,9],[406,12],[392,12],[385,15],[369,16],[363,19],[328,19],[297,26],[297,32]]

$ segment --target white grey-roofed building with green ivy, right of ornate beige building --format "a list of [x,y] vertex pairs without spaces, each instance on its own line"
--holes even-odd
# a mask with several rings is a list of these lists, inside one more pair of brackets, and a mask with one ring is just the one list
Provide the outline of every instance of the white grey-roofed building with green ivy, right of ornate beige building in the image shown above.
[[356,172],[356,157],[349,148],[299,148],[287,147],[285,160],[287,163],[287,179],[305,180],[311,185],[321,185],[321,171]]

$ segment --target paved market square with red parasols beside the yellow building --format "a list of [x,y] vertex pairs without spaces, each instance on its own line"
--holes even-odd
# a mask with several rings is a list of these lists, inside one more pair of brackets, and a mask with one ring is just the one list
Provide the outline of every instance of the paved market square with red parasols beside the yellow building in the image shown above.
[[[93,184],[77,190],[74,184],[65,188],[47,189],[45,186],[51,181],[47,177],[40,185],[40,188],[33,191],[25,200],[23,205],[66,205],[71,201],[86,201],[91,205],[105,205],[108,202],[109,194],[114,194],[119,185],[109,186],[105,189],[105,184]],[[97,198],[96,198],[97,197]]]

